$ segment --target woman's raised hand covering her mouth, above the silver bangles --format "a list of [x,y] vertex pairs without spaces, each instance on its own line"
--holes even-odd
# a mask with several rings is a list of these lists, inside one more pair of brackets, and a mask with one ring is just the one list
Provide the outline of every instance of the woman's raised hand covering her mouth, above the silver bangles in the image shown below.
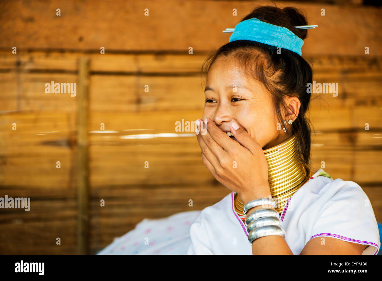
[[244,204],[268,198],[271,195],[268,163],[261,146],[235,122],[231,123],[230,129],[240,144],[220,130],[210,118],[207,124],[201,119],[197,121],[196,137],[202,150],[203,164],[215,179],[237,192]]

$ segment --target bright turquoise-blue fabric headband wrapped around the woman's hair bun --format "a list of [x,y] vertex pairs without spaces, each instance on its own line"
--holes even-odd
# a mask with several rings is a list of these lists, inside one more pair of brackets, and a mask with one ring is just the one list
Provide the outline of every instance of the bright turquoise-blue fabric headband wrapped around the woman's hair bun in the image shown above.
[[301,56],[301,47],[304,40],[296,36],[289,29],[257,18],[246,19],[236,24],[235,31],[230,36],[230,42],[236,40],[251,40],[275,46],[298,53]]

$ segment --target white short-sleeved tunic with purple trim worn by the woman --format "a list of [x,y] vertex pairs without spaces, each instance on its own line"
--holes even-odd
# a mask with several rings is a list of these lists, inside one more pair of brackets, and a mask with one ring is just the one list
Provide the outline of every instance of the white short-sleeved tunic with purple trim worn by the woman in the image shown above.
[[[363,254],[377,254],[379,231],[365,192],[353,181],[317,176],[320,171],[293,194],[280,215],[293,254],[300,254],[310,239],[321,236],[369,245]],[[233,199],[231,192],[202,210],[191,225],[187,254],[252,255],[246,226],[234,210]]]

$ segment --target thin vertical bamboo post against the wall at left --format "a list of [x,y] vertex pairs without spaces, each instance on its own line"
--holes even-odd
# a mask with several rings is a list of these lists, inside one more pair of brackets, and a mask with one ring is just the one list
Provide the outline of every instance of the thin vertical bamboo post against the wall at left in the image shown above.
[[89,108],[89,59],[78,60],[78,126],[77,126],[77,188],[78,229],[77,254],[89,249],[89,147],[87,136]]

